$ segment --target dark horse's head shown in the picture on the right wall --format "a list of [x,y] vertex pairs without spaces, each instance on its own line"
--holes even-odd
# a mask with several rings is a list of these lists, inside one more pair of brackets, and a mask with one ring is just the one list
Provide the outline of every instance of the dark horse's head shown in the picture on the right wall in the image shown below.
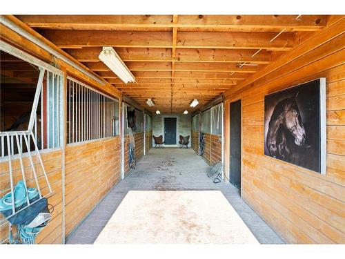
[[278,102],[270,117],[266,146],[273,157],[286,159],[293,146],[302,146],[306,141],[297,95]]

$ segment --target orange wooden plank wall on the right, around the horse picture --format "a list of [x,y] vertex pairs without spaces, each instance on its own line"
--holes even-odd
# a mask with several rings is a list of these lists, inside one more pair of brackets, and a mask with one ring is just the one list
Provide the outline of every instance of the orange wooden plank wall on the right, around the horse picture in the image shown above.
[[[241,93],[242,198],[289,243],[345,242],[344,31],[343,19],[277,59]],[[264,155],[264,96],[319,77],[326,77],[326,175]]]

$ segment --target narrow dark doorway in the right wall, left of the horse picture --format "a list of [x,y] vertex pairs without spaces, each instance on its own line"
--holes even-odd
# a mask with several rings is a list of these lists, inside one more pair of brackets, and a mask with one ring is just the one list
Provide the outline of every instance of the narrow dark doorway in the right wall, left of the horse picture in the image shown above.
[[230,183],[241,189],[241,100],[230,104]]

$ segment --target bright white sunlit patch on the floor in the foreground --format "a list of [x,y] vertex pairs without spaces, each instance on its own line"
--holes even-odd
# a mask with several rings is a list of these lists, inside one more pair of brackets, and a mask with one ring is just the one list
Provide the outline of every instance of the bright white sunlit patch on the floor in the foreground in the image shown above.
[[95,244],[259,244],[221,191],[128,191]]

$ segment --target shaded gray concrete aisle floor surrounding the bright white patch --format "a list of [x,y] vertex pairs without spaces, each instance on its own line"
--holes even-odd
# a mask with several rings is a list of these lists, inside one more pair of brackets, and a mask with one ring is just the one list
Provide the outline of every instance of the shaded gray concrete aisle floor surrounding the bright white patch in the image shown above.
[[[220,190],[262,244],[284,244],[273,229],[240,198],[229,182],[213,184],[207,177],[208,164],[191,148],[152,148],[124,180],[67,238],[67,244],[92,244],[130,190]],[[221,211],[219,211],[221,213]]]

